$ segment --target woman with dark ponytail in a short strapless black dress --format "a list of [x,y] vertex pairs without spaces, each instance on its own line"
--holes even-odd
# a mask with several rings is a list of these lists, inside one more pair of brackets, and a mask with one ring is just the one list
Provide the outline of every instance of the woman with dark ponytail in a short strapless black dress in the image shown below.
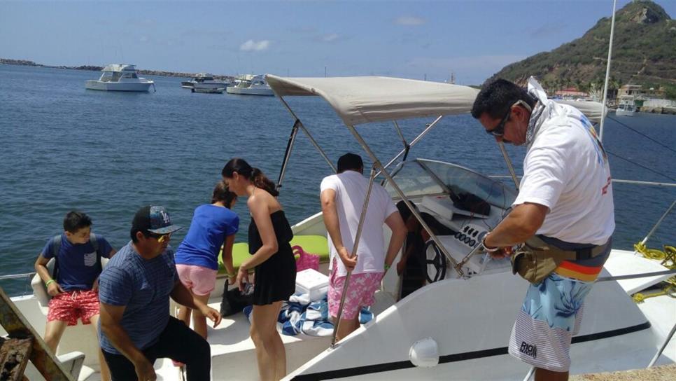
[[277,331],[283,300],[295,292],[296,262],[289,241],[293,238],[284,211],[276,199],[279,192],[260,169],[234,158],[223,167],[223,180],[230,191],[246,196],[251,212],[248,258],[239,266],[237,284],[243,291],[248,270],[254,270],[251,340],[256,347],[260,379],[281,380],[286,375],[286,352]]

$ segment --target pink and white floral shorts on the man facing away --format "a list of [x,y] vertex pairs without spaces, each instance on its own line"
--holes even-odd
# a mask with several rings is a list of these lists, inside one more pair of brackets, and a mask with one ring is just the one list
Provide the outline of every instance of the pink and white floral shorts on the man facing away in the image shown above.
[[[337,266],[334,266],[329,279],[328,291],[329,314],[331,317],[338,317],[340,298],[346,278],[337,276],[337,273]],[[375,303],[373,296],[380,287],[383,275],[385,275],[385,272],[365,272],[350,275],[350,284],[348,284],[345,295],[341,319],[356,319],[361,307]]]

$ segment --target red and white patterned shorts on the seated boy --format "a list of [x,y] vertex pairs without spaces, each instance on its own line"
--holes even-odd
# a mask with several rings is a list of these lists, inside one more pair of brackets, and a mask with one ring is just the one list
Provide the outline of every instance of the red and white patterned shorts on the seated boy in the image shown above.
[[69,326],[90,324],[92,316],[99,314],[99,294],[96,291],[66,291],[51,298],[47,321],[66,321]]

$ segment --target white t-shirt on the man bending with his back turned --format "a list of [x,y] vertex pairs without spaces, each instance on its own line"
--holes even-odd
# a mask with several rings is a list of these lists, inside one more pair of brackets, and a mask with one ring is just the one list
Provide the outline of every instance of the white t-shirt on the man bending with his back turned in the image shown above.
[[[344,246],[350,253],[352,253],[352,248],[354,247],[359,217],[362,213],[362,206],[366,199],[368,187],[369,180],[359,172],[351,170],[326,176],[320,186],[321,192],[327,189],[333,189],[336,192],[336,210],[338,213],[340,235]],[[394,205],[390,195],[388,195],[382,186],[374,183],[371,189],[366,218],[362,226],[362,235],[359,238],[357,265],[352,270],[353,274],[382,272],[384,270],[386,249],[383,236],[383,223],[394,212],[397,212],[397,207]],[[331,252],[331,265],[333,258],[336,258],[338,275],[341,277],[347,275],[347,270],[340,260],[328,233],[327,238]]]

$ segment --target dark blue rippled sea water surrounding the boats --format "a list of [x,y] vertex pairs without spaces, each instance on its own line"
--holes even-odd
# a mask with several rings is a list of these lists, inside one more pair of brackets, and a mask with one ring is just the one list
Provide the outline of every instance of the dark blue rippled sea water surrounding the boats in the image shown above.
[[[220,171],[232,157],[246,158],[276,180],[294,119],[275,97],[193,94],[183,78],[148,76],[157,92],[85,90],[94,71],[0,65],[0,275],[31,272],[48,237],[79,209],[94,220],[94,232],[120,248],[129,240],[136,209],[164,205],[178,245],[192,211],[209,202]],[[289,98],[318,144],[335,162],[346,151],[362,153],[328,104],[318,97]],[[611,114],[612,118],[616,118]],[[673,148],[676,117],[637,113],[617,118]],[[432,120],[400,123],[410,141]],[[383,162],[402,149],[390,123],[358,131]],[[676,153],[607,119],[604,144],[615,179],[676,182]],[[507,148],[517,171],[523,148]],[[364,155],[365,156],[365,155]],[[456,162],[485,174],[506,174],[495,142],[469,115],[446,117],[411,149],[411,157]],[[634,165],[636,162],[660,174]],[[280,200],[291,223],[319,211],[319,183],[330,174],[304,134],[296,140]],[[663,174],[663,175],[661,175]],[[642,240],[673,200],[676,188],[614,184],[616,247]],[[246,240],[245,202],[238,241]],[[651,247],[676,244],[676,212]],[[8,293],[28,292],[27,282],[0,281]]]

